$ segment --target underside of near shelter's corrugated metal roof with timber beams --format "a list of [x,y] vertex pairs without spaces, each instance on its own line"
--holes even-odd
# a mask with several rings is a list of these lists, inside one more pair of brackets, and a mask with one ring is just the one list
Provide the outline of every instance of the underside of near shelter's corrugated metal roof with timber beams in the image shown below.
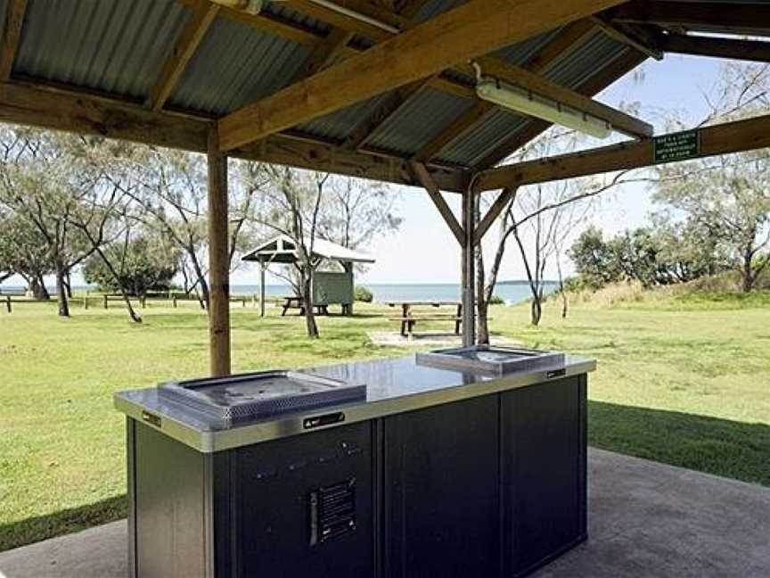
[[[201,152],[219,120],[233,156],[405,184],[419,184],[418,161],[460,191],[549,125],[479,101],[467,59],[442,68],[423,64],[440,51],[412,62],[411,48],[446,36],[445,51],[462,44],[458,57],[498,78],[527,85],[534,73],[586,97],[649,55],[708,52],[692,30],[770,30],[770,4],[756,1],[335,3],[369,21],[322,4],[268,1],[254,15],[208,0],[0,0],[0,120]],[[397,78],[369,76],[391,63]],[[334,78],[339,103],[324,101]]]

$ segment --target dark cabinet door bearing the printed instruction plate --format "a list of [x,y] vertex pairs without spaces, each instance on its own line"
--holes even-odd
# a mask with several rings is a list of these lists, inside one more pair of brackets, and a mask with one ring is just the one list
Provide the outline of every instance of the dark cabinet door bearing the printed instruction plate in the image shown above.
[[234,575],[375,575],[372,429],[347,425],[233,450]]

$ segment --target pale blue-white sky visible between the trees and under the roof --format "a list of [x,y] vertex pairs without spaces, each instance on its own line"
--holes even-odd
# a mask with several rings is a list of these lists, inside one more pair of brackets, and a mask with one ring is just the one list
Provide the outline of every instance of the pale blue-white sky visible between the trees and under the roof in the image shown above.
[[[648,61],[641,70],[641,81],[635,80],[633,74],[628,75],[596,98],[612,106],[640,103],[638,116],[651,122],[656,133],[660,133],[664,130],[662,119],[672,112],[684,120],[690,120],[692,124],[706,115],[703,94],[709,93],[715,84],[720,62],[700,57],[667,55],[662,62]],[[359,274],[357,282],[370,285],[458,283],[460,248],[428,195],[422,189],[406,186],[393,186],[392,190],[397,194],[397,206],[404,219],[403,224],[397,233],[382,235],[365,249],[377,262]],[[459,214],[459,195],[446,194],[446,200],[455,214]],[[653,209],[651,193],[642,185],[619,186],[603,196],[597,204],[586,219],[585,226],[593,224],[607,235],[643,225]],[[493,227],[487,234],[487,240],[494,242],[496,236],[497,231]],[[489,250],[487,242],[486,251]],[[569,274],[569,262],[563,266]],[[523,265],[518,251],[511,243],[500,278],[523,277]],[[553,263],[547,268],[546,277],[555,277]],[[268,282],[276,282],[276,279],[268,278]],[[74,285],[82,283],[81,277],[73,277]],[[249,265],[236,270],[231,277],[231,285],[257,283],[258,269]],[[5,285],[23,285],[23,281],[12,277]]]

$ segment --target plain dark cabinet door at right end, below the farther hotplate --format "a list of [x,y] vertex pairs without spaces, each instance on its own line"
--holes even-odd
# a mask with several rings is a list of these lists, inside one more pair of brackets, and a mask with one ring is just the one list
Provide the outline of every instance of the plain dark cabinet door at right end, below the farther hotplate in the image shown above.
[[501,397],[506,575],[586,537],[585,377]]

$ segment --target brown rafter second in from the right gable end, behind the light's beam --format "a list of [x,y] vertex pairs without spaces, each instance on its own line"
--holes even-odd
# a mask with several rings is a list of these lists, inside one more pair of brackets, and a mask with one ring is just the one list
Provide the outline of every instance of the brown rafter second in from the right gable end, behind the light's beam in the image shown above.
[[[535,56],[531,57],[524,67],[532,72],[542,72],[546,70],[553,62],[560,59],[566,51],[574,49],[583,44],[594,31],[594,24],[588,19],[572,22],[565,27],[559,36],[553,38],[543,49]],[[496,109],[496,105],[487,101],[475,103],[470,111],[455,119],[438,136],[434,137],[430,143],[423,146],[420,151],[414,154],[416,161],[430,161],[434,156],[440,153],[446,145],[449,145],[459,138],[465,132],[474,127],[490,111]]]

